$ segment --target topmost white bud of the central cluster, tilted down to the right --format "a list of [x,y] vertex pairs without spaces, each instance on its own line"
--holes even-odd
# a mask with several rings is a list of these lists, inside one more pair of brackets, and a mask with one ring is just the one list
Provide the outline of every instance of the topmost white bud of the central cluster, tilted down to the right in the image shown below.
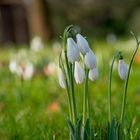
[[79,50],[83,55],[90,51],[87,40],[81,34],[77,34],[76,39]]

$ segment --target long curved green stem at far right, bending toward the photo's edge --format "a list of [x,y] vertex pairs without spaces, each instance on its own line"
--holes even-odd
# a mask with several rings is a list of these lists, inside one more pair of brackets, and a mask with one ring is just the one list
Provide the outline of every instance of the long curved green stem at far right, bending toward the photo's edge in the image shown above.
[[126,78],[126,81],[125,81],[125,86],[124,86],[124,94],[123,94],[123,102],[122,102],[122,110],[121,110],[121,119],[120,119],[122,126],[123,126],[123,123],[124,123],[125,106],[126,106],[126,95],[127,95],[130,71],[131,71],[131,67],[132,67],[132,63],[133,63],[134,57],[135,57],[135,55],[136,55],[136,53],[138,51],[139,44],[140,44],[140,42],[138,42],[137,38],[136,38],[136,41],[137,41],[136,49],[135,49],[135,51],[134,51],[134,53],[132,55],[132,58],[131,58],[131,61],[130,61],[130,64],[129,64],[128,75],[127,75],[127,78]]

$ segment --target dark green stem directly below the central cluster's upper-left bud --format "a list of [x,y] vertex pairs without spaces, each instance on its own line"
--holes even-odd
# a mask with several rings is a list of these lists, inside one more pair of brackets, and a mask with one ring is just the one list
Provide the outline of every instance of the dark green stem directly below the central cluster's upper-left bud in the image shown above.
[[76,102],[75,102],[75,93],[74,93],[74,64],[70,64],[70,82],[71,82],[71,93],[72,93],[72,110],[73,110],[73,122],[76,125],[77,121],[77,111],[76,111]]

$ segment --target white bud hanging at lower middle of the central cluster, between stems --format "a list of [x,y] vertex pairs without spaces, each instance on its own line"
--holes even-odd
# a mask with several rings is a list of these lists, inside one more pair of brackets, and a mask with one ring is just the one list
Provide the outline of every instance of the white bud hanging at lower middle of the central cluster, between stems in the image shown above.
[[81,84],[85,78],[84,70],[79,62],[75,62],[74,78],[77,84]]

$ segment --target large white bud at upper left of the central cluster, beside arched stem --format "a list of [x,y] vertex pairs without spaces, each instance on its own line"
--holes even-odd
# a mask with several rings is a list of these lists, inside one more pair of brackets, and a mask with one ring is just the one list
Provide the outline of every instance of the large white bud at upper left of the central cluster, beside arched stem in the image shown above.
[[80,53],[78,46],[72,38],[67,39],[67,57],[72,64],[80,60]]

